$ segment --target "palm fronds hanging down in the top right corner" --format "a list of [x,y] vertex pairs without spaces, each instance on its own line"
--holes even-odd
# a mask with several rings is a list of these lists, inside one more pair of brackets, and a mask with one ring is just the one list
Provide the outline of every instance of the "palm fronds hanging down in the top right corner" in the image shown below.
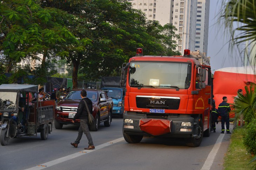
[[[222,18],[225,28],[231,33],[231,49],[243,42],[251,44],[251,65],[256,65],[256,2],[255,0],[228,0],[222,2]],[[234,28],[234,23],[239,26]],[[239,31],[237,34],[237,31]],[[241,34],[242,31],[242,34]]]

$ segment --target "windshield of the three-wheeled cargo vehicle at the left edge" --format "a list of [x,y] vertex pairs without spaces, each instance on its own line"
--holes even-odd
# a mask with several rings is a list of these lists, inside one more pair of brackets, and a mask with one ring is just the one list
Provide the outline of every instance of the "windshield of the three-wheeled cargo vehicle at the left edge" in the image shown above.
[[12,111],[16,109],[17,92],[0,92],[0,110]]

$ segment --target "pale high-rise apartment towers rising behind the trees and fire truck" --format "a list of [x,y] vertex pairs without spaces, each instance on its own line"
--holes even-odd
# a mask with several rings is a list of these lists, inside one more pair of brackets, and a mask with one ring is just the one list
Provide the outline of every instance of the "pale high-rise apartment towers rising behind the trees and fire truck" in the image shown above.
[[210,0],[130,0],[134,9],[141,10],[148,20],[161,25],[171,23],[177,28],[176,50],[200,50],[207,53]]

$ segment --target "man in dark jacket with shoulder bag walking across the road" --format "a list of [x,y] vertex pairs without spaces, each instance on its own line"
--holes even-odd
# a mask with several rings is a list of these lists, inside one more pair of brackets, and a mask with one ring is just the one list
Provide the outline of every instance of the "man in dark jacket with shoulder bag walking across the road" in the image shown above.
[[80,143],[83,133],[85,133],[85,135],[88,139],[88,144],[89,144],[88,148],[85,148],[85,149],[90,150],[90,149],[95,149],[95,147],[93,145],[93,139],[90,134],[89,127],[88,127],[88,114],[89,113],[86,109],[85,102],[87,103],[90,113],[93,112],[93,104],[92,104],[92,101],[89,98],[87,98],[86,96],[87,96],[86,91],[82,90],[81,91],[82,100],[79,102],[78,110],[76,111],[76,114],[72,120],[72,123],[74,123],[75,119],[79,118],[80,119],[80,127],[78,130],[78,137],[76,138],[75,142],[71,142],[71,145],[74,146],[75,148],[77,148],[78,144]]

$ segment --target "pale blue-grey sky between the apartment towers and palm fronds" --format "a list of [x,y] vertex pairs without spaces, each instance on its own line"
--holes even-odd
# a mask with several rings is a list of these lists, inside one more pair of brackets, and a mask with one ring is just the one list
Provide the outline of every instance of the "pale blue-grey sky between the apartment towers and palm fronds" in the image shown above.
[[212,73],[220,68],[242,66],[239,52],[229,50],[230,35],[225,32],[224,25],[218,23],[222,1],[210,0],[207,57],[210,57]]

